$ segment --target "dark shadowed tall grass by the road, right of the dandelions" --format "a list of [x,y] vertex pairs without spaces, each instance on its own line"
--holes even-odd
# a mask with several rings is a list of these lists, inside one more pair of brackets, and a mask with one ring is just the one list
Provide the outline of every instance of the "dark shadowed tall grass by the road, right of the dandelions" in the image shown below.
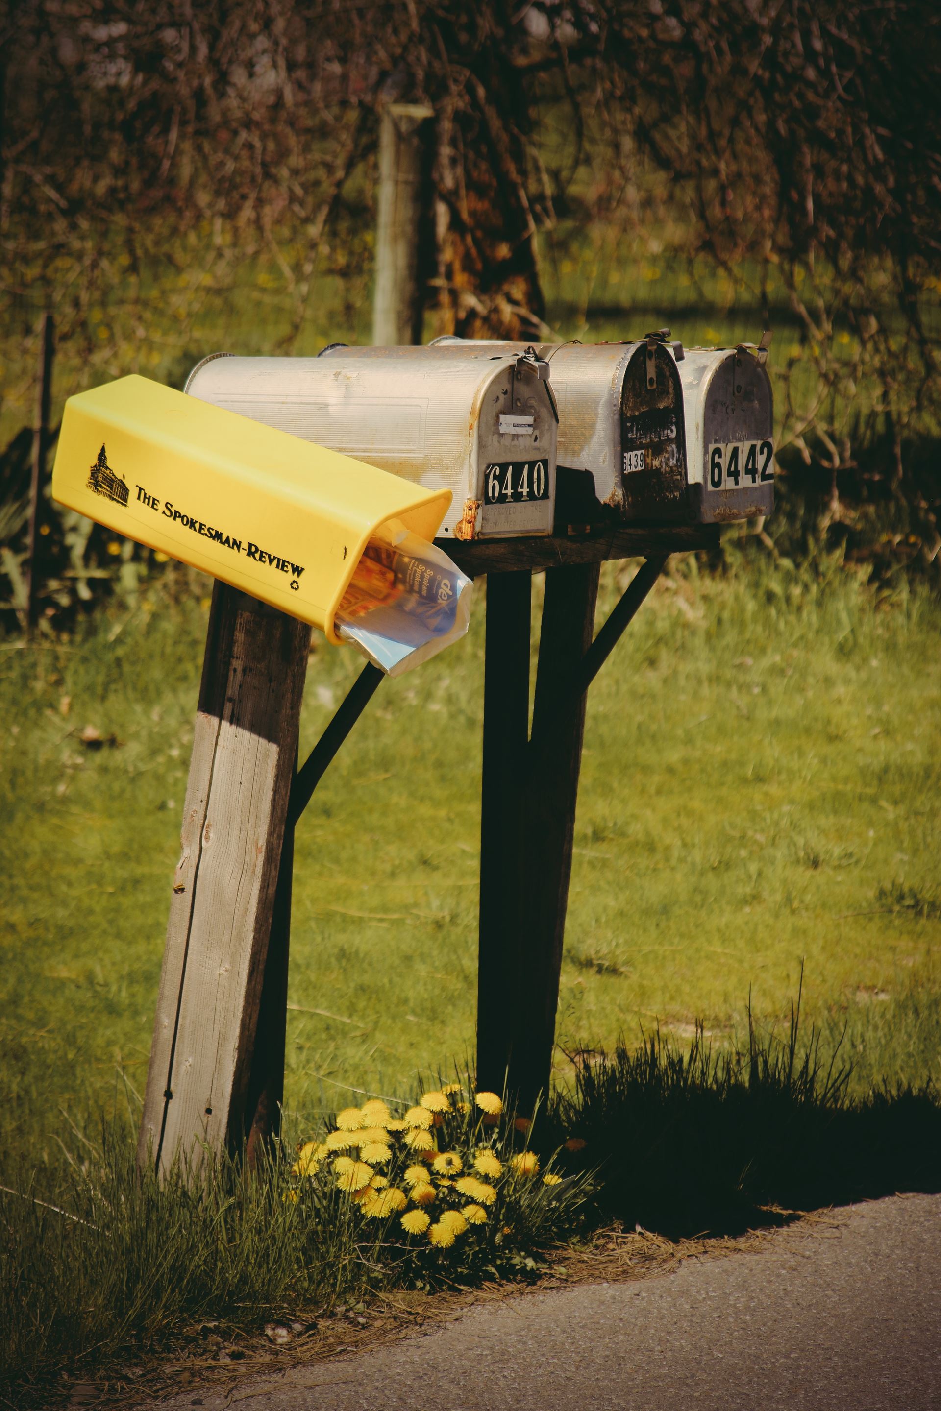
[[882,1086],[851,1096],[839,1051],[800,1041],[800,1002],[787,1038],[714,1051],[697,1033],[680,1050],[659,1031],[585,1065],[574,1094],[549,1106],[546,1144],[574,1171],[597,1173],[598,1218],[680,1239],[741,1235],[796,1212],[903,1191],[941,1191],[937,1089]]

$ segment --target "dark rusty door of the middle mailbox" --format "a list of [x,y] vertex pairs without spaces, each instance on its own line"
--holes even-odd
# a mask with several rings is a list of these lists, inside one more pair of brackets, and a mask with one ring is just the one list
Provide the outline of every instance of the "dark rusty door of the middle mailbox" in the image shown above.
[[[677,523],[691,518],[683,388],[670,351],[639,344],[621,387],[621,484],[618,518]],[[650,385],[653,381],[655,385]]]

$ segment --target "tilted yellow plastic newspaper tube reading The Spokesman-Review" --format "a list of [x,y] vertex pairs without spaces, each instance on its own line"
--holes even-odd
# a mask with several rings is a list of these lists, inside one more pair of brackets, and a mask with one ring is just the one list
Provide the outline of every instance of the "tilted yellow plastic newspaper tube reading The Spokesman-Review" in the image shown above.
[[433,539],[451,501],[147,377],[71,396],[52,495],[319,626],[389,519]]

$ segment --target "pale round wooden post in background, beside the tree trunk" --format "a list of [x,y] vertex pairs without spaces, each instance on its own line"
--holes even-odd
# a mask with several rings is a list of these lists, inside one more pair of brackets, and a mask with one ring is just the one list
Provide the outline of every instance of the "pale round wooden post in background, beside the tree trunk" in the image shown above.
[[418,253],[429,117],[433,109],[419,103],[387,103],[380,113],[372,302],[372,341],[380,346],[422,341]]

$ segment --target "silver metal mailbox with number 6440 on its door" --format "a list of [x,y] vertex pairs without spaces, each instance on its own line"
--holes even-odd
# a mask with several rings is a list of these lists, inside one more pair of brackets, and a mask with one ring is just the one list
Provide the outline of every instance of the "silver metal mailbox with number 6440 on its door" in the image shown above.
[[443,539],[552,533],[557,416],[549,364],[532,349],[467,361],[435,347],[223,353],[193,368],[186,391],[429,490],[450,490]]

